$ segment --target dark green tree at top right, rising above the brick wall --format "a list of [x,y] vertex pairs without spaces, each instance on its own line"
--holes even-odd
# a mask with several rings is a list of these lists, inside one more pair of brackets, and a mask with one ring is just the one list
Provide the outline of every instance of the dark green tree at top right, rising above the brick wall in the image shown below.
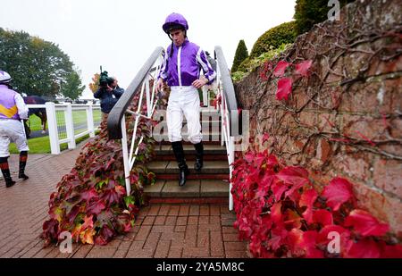
[[[339,0],[340,6],[355,0]],[[331,7],[328,0],[296,0],[294,19],[297,22],[297,35],[313,28],[314,24],[326,21]]]

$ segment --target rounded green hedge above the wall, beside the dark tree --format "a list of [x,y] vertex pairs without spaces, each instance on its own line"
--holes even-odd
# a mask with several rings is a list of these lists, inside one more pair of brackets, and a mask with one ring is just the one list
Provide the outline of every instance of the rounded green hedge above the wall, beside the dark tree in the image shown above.
[[296,37],[296,22],[290,21],[282,23],[279,26],[267,30],[257,39],[251,50],[250,58],[257,57],[281,45],[293,43]]

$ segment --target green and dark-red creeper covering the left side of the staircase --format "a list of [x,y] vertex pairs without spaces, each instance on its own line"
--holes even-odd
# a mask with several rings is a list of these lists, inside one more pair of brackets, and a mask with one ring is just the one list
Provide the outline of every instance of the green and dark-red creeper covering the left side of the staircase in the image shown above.
[[[133,103],[138,103],[138,96]],[[144,204],[143,186],[155,181],[155,174],[144,165],[154,155],[155,140],[150,132],[153,123],[141,119],[138,124],[137,136],[144,139],[130,171],[131,193],[127,196],[121,142],[109,140],[106,121],[102,122],[100,134],[82,148],[75,166],[50,196],[50,218],[44,222],[42,233],[46,245],[57,243],[63,231],[71,233],[76,242],[105,245],[134,226]],[[126,128],[130,141],[133,130],[130,116]]]

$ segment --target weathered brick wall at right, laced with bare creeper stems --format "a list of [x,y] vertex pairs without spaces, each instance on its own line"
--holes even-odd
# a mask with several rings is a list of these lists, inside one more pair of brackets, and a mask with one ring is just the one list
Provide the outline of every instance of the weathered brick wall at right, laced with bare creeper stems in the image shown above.
[[[297,38],[281,57],[312,60],[294,79],[287,102],[264,66],[235,84],[250,111],[251,135],[268,132],[272,153],[311,171],[315,183],[335,176],[355,184],[360,205],[402,237],[402,13],[399,0],[356,1]],[[260,74],[268,80],[263,80]]]

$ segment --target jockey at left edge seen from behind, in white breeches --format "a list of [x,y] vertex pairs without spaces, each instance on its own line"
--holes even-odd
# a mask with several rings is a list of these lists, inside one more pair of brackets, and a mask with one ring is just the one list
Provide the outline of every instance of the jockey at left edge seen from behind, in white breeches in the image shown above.
[[12,80],[5,71],[0,71],[0,168],[5,180],[5,187],[12,187],[12,180],[7,159],[10,157],[8,146],[14,142],[20,151],[20,170],[18,177],[28,180],[25,174],[25,165],[28,158],[28,142],[21,119],[28,119],[28,107],[22,96],[11,89]]

